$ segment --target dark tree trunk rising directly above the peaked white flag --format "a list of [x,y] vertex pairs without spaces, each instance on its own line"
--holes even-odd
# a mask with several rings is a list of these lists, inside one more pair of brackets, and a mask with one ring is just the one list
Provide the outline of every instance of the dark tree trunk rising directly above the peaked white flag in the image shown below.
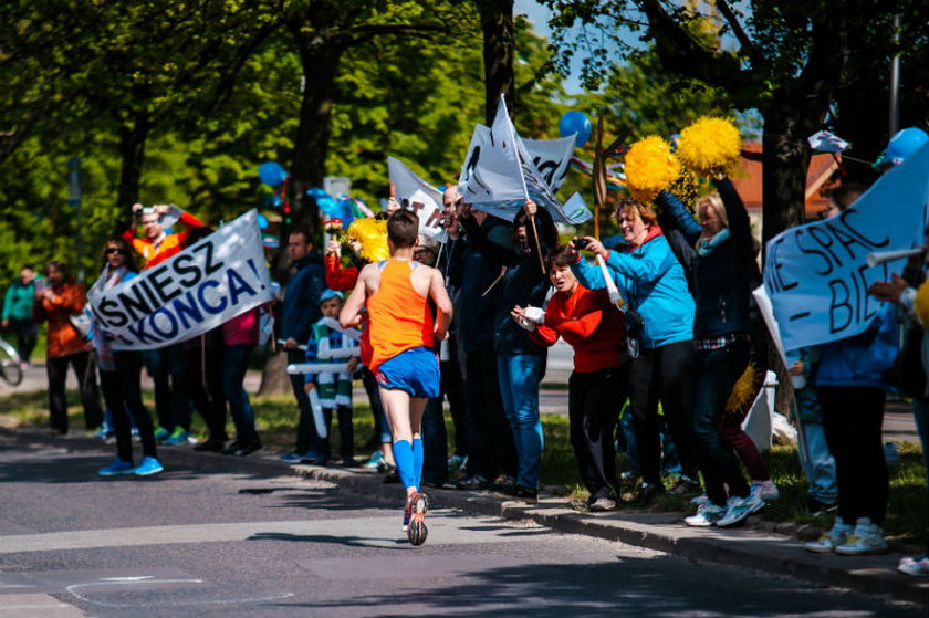
[[493,124],[500,95],[507,95],[510,116],[515,108],[513,0],[477,0],[483,31],[484,116]]

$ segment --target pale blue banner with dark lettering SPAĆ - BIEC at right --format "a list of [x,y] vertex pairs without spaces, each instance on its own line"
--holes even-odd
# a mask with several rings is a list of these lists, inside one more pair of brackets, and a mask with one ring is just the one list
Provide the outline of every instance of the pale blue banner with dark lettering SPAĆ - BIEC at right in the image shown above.
[[768,242],[764,289],[786,352],[867,328],[880,304],[868,295],[868,286],[904,268],[902,260],[869,268],[867,256],[921,244],[928,205],[926,145],[887,171],[853,207]]

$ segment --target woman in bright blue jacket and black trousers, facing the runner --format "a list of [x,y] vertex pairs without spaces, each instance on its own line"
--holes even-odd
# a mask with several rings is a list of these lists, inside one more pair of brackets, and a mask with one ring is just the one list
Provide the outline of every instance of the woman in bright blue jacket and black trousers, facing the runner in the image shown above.
[[[693,373],[693,300],[683,269],[647,206],[624,199],[616,221],[625,244],[606,250],[586,238],[587,250],[602,255],[628,308],[643,318],[639,355],[629,366],[629,402],[643,474],[641,502],[665,492],[661,483],[661,446],[658,401],[671,431],[681,463],[681,479],[672,491],[699,490],[692,438],[687,427]],[[591,290],[604,287],[602,270],[576,258],[577,280]]]

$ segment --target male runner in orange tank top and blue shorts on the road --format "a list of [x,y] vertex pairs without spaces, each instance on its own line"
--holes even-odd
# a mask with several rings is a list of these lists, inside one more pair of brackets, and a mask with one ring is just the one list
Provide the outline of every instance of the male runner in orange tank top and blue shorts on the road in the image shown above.
[[[422,411],[439,395],[439,358],[431,349],[448,333],[451,300],[442,274],[413,261],[419,218],[397,210],[387,220],[390,260],[362,269],[358,282],[340,313],[343,327],[356,326],[367,310],[369,367],[377,377],[380,400],[394,436],[394,459],[406,489],[404,531],[409,542],[426,541],[426,494],[422,473]],[[430,301],[435,304],[432,315]]]

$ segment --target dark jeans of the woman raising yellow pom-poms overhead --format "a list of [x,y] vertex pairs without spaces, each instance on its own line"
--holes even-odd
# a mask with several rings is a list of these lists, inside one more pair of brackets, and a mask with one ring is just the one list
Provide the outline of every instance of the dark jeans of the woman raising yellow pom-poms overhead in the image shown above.
[[707,496],[724,506],[729,495],[745,497],[749,484],[739,468],[732,447],[722,437],[720,419],[729,394],[749,365],[749,344],[735,342],[719,349],[697,352],[697,395],[693,401],[693,434],[697,461],[703,472]]

